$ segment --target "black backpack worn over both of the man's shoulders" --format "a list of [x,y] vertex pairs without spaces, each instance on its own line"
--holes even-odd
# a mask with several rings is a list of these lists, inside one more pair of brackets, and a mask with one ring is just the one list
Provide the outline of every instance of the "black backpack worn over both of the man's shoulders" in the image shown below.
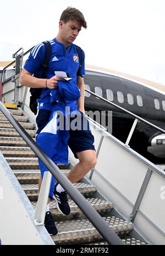
[[[45,45],[45,56],[42,64],[41,78],[45,78],[47,66],[48,66],[48,63],[50,62],[50,58],[52,55],[52,46],[49,41],[45,41],[42,43]],[[77,76],[81,76],[83,54],[82,54],[81,48],[78,45],[75,45],[75,47],[79,55],[79,69],[77,72]],[[37,114],[37,99],[40,99],[41,92],[42,92],[42,88],[30,88],[31,96],[30,96],[29,107],[35,115]]]

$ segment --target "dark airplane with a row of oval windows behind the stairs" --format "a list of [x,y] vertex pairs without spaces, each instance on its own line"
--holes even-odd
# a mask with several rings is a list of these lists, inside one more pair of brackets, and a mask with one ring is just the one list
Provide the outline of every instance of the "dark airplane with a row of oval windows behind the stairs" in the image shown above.
[[[86,66],[85,88],[165,129],[165,86],[145,79]],[[135,118],[92,94],[85,93],[85,110],[112,111],[112,135],[125,143]],[[129,146],[155,164],[165,163],[165,134],[140,121]]]

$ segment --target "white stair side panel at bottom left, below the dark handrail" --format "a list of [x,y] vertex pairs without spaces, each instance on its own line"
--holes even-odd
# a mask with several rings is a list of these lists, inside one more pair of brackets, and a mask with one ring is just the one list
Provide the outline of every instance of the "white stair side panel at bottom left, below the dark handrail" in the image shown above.
[[[2,244],[53,244],[44,226],[35,226],[35,211],[0,154],[0,238]],[[9,202],[9,203],[8,203]]]

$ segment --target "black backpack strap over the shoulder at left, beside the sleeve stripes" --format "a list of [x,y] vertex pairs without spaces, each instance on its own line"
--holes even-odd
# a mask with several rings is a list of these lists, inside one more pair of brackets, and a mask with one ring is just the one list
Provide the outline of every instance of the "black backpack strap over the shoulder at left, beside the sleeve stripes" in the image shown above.
[[48,66],[48,63],[50,62],[50,58],[52,55],[52,46],[49,41],[44,41],[42,43],[45,45],[45,55],[44,55],[43,64],[42,64],[41,78],[45,78],[47,66]]

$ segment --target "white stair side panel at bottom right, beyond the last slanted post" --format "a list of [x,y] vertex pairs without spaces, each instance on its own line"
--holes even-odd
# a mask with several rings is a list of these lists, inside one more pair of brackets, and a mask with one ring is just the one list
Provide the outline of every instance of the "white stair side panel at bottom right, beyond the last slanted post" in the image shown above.
[[[150,178],[149,185],[147,186],[146,193],[144,198],[141,201],[139,207],[142,215],[147,216],[149,220],[153,223],[147,223],[144,225],[144,216],[138,214],[135,218],[135,223],[138,223],[141,231],[147,232],[147,237],[155,244],[165,244],[165,221],[164,221],[164,212],[165,212],[165,179],[162,179],[160,175],[153,172]],[[158,233],[155,236],[155,225],[161,230],[161,233]],[[151,232],[154,230],[154,232]]]

